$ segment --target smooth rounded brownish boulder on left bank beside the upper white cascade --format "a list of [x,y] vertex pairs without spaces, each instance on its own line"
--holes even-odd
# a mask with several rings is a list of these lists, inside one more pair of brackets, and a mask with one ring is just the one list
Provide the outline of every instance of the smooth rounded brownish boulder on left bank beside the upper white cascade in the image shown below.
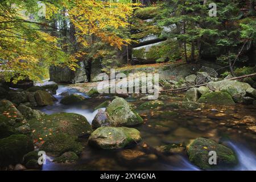
[[35,100],[38,106],[53,105],[53,98],[51,94],[43,90],[35,92]]

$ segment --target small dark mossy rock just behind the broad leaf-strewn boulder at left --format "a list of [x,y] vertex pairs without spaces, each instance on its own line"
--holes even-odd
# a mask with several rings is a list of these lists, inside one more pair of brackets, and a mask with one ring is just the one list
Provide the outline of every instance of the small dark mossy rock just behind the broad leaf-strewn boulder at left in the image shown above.
[[40,110],[31,109],[30,107],[27,107],[23,104],[20,104],[18,106],[18,110],[20,111],[20,113],[24,115],[26,119],[33,119],[33,118],[38,119],[38,118],[41,118],[42,115],[46,115],[42,113]]

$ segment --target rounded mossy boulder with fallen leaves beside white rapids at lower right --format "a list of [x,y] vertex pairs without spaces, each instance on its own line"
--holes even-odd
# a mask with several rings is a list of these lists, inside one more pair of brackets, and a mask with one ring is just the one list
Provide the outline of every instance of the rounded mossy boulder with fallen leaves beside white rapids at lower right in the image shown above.
[[[217,165],[209,164],[209,152],[216,151]],[[222,144],[206,138],[196,138],[188,146],[188,157],[190,162],[201,169],[213,169],[218,167],[230,167],[237,164],[234,152]]]

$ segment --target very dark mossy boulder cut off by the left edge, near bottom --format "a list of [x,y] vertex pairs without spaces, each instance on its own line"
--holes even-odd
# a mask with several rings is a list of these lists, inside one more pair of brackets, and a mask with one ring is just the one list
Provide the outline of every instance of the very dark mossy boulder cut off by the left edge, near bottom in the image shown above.
[[26,135],[11,135],[0,139],[0,166],[21,163],[23,156],[34,150],[34,144]]

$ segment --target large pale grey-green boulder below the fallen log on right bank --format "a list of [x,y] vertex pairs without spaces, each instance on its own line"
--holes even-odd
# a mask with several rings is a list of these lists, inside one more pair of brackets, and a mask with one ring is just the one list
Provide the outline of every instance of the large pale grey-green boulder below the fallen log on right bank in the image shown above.
[[222,91],[229,93],[235,102],[241,103],[242,98],[246,95],[246,90],[251,86],[244,82],[233,80],[222,80],[216,82],[209,82],[207,87],[213,91]]

